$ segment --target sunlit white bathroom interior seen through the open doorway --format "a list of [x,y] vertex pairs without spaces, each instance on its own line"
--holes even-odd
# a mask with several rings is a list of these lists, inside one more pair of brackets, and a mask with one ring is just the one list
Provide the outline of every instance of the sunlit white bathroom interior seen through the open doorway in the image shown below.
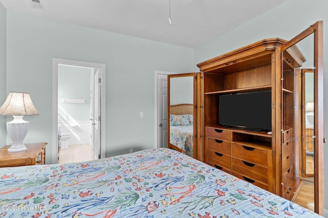
[[91,143],[94,70],[58,64],[58,163],[94,159]]

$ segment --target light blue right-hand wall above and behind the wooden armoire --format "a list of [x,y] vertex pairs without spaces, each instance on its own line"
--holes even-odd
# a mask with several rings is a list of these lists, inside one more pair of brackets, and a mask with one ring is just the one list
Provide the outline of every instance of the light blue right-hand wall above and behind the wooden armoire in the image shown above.
[[[244,23],[234,30],[195,50],[195,63],[238,49],[265,39],[279,37],[292,39],[318,20],[323,20],[323,68],[324,87],[328,87],[328,1],[290,0],[264,14]],[[326,92],[326,90],[325,90]],[[328,95],[324,95],[324,111],[328,108]],[[328,114],[324,114],[324,137],[328,138]],[[322,140],[322,139],[321,139]],[[324,156],[328,157],[327,144]],[[328,209],[328,161],[324,161],[325,208]]]

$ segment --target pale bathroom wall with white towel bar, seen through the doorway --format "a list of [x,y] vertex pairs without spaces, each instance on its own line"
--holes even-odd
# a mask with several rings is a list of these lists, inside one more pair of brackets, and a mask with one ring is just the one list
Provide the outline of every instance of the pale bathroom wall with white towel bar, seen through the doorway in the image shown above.
[[[58,122],[90,119],[91,68],[58,66]],[[86,103],[61,103],[62,99],[84,99]]]

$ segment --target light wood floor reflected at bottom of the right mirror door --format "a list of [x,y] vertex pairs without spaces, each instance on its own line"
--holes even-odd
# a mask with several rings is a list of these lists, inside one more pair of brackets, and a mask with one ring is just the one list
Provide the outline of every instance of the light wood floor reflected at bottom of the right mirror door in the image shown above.
[[314,211],[314,182],[312,179],[304,179],[303,186],[295,199],[295,203]]

